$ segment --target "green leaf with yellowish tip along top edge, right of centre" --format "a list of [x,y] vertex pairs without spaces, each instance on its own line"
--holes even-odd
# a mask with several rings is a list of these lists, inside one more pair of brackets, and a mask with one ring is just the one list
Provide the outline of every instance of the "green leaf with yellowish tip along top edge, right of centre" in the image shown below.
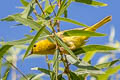
[[100,6],[100,7],[107,6],[107,4],[105,4],[105,3],[98,2],[98,1],[93,1],[93,0],[73,0],[73,1],[88,4],[88,5],[91,5],[91,6]]

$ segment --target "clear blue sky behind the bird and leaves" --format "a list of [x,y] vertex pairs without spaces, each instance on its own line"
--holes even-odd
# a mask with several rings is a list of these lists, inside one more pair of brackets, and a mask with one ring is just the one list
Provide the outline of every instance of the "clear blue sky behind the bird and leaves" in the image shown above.
[[[68,8],[68,18],[77,20],[87,25],[93,25],[102,18],[111,15],[112,21],[104,25],[97,32],[106,33],[109,36],[110,29],[112,26],[115,27],[116,35],[115,40],[120,40],[120,0],[97,0],[107,3],[107,7],[93,7],[80,3],[72,3]],[[116,2],[115,2],[116,1]],[[20,0],[1,0],[0,2],[0,18],[6,17],[7,15],[21,12],[22,10],[16,7],[22,6]],[[28,27],[14,27],[14,22],[0,22],[0,39],[3,38],[5,41],[18,40],[24,37],[24,34],[29,33]],[[62,30],[78,28],[79,26],[71,25],[69,23],[61,23]],[[106,44],[108,42],[108,36],[99,38],[90,38],[89,44]],[[38,61],[39,60],[39,61]],[[39,62],[43,62],[44,57],[41,59],[26,60],[25,62],[18,61],[18,67],[24,72],[29,73],[30,67],[40,66],[44,67],[45,64],[39,65]],[[22,67],[20,66],[22,65]],[[29,65],[29,66],[28,66]]]

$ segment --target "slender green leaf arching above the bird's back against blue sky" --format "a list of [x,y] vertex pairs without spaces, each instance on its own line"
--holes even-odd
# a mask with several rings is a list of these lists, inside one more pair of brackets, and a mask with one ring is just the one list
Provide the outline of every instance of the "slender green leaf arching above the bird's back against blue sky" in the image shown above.
[[76,24],[76,25],[83,26],[83,27],[89,27],[89,26],[87,26],[87,25],[85,25],[83,23],[80,23],[80,22],[77,22],[75,20],[68,19],[68,18],[56,17],[56,18],[54,18],[54,20],[60,20],[60,21],[69,22],[69,23]]

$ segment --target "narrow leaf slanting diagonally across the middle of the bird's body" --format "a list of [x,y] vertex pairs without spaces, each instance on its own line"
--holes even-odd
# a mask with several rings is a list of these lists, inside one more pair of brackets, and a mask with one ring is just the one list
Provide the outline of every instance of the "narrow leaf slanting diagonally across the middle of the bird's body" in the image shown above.
[[66,50],[69,52],[69,54],[78,62],[80,62],[80,60],[74,55],[74,53],[68,48],[68,46],[62,41],[60,40],[60,38],[58,36],[55,35],[56,40],[58,41],[58,43]]

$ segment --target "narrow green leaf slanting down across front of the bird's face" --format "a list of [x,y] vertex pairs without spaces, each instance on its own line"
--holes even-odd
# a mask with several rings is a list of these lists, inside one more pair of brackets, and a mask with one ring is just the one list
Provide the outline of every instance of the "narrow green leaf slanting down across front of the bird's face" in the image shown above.
[[37,32],[37,34],[34,36],[32,42],[30,43],[29,47],[27,48],[25,55],[23,57],[23,59],[28,55],[28,52],[31,50],[31,48],[33,47],[34,43],[36,42],[36,40],[39,38],[40,34],[44,31],[45,26],[42,26],[39,31]]

